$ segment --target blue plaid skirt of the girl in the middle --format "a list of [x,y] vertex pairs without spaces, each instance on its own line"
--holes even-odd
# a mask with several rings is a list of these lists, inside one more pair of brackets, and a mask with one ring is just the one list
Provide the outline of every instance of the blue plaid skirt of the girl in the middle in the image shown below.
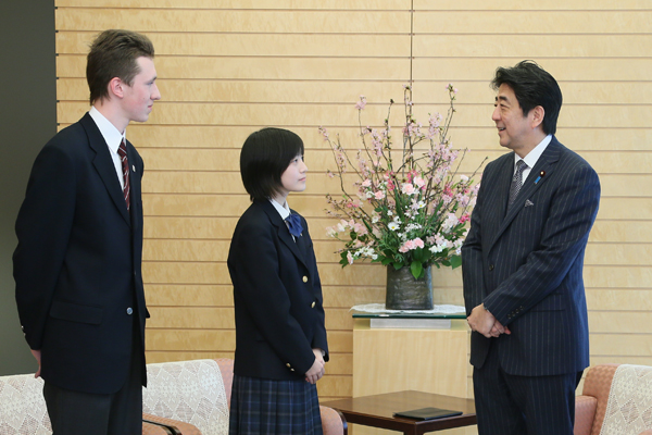
[[234,375],[229,435],[322,435],[317,386]]

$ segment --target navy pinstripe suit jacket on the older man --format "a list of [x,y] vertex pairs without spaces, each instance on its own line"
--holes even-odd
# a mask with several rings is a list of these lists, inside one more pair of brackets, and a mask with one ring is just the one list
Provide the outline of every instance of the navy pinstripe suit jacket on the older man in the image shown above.
[[513,375],[581,371],[589,365],[582,266],[598,174],[553,137],[505,213],[513,172],[513,152],[487,165],[462,247],[467,314],[485,303],[512,334],[472,333],[471,363],[482,366],[493,346]]

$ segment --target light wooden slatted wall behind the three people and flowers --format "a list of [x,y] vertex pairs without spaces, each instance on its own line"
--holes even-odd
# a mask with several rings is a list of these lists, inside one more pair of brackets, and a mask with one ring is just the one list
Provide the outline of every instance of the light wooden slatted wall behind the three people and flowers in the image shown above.
[[[226,256],[249,199],[238,159],[263,126],[304,140],[309,185],[290,197],[315,240],[331,362],[327,398],[351,396],[349,308],[384,299],[385,271],[341,269],[328,239],[324,195],[338,191],[317,126],[356,150],[353,104],[378,126],[413,79],[414,110],[447,110],[462,171],[504,152],[490,119],[497,66],[535,59],[560,82],[557,137],[599,172],[602,202],[586,256],[591,362],[652,364],[652,10],[647,0],[57,0],[58,117],[88,109],[86,51],[108,27],[143,32],[156,48],[163,99],[128,127],[146,162],[143,274],[152,313],[148,360],[233,358],[233,288]],[[413,12],[411,12],[411,9]],[[413,22],[411,23],[411,20]],[[413,24],[414,34],[411,35]],[[401,122],[401,107],[391,123]],[[350,179],[350,178],[349,178]],[[435,300],[463,303],[461,271],[435,270]],[[467,368],[471,376],[472,370]],[[469,383],[471,385],[471,383]],[[469,389],[472,396],[472,389]]]

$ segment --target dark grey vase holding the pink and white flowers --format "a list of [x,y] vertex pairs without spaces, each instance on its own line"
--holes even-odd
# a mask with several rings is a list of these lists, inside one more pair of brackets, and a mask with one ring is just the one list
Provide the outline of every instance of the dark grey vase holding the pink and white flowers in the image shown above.
[[410,268],[398,271],[387,266],[387,294],[385,308],[388,310],[431,310],[432,273],[425,268],[424,276],[415,279]]

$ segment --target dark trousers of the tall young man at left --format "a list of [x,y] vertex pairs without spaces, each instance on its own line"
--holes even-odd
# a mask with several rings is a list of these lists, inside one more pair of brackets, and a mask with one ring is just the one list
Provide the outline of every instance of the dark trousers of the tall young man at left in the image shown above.
[[[140,435],[142,433],[142,375],[140,334],[134,327],[131,368],[114,394],[89,394],[46,382],[43,397],[52,435]],[[98,373],[101,376],[102,373]]]

